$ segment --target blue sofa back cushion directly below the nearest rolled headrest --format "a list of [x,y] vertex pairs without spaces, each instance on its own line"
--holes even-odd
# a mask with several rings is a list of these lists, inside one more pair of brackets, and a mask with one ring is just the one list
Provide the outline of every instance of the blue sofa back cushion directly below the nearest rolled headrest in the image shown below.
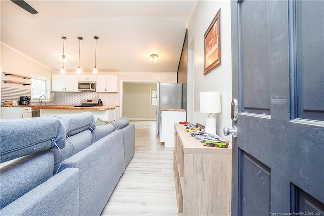
[[0,170],[0,208],[18,199],[53,176],[51,150],[20,158]]

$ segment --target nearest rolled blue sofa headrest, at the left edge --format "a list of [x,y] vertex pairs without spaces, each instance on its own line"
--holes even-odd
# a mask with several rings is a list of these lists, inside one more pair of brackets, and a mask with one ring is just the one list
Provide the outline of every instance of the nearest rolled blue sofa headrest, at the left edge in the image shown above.
[[66,128],[55,117],[0,120],[0,131],[0,163],[50,149],[53,142],[65,146]]

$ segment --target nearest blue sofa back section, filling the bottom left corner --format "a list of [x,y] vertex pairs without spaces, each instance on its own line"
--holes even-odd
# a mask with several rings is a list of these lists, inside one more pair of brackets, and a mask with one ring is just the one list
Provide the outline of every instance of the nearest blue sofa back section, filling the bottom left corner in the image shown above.
[[68,168],[0,210],[0,215],[78,215],[79,170]]

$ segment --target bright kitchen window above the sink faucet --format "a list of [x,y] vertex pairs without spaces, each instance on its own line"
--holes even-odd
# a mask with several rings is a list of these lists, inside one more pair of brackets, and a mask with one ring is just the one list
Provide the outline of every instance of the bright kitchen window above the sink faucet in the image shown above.
[[32,76],[31,85],[31,99],[38,100],[42,95],[46,96],[46,99],[50,98],[50,78],[41,76]]

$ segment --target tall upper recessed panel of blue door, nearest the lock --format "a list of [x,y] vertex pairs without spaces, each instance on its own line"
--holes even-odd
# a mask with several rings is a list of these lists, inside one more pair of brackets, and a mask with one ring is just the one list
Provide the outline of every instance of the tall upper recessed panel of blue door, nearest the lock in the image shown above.
[[[241,7],[242,104],[245,112],[270,114],[267,4],[249,1]],[[261,30],[259,30],[261,29]],[[260,49],[262,48],[262,49]],[[258,55],[255,55],[258,53]],[[249,85],[253,82],[255,85]],[[255,100],[255,98],[259,98]]]

